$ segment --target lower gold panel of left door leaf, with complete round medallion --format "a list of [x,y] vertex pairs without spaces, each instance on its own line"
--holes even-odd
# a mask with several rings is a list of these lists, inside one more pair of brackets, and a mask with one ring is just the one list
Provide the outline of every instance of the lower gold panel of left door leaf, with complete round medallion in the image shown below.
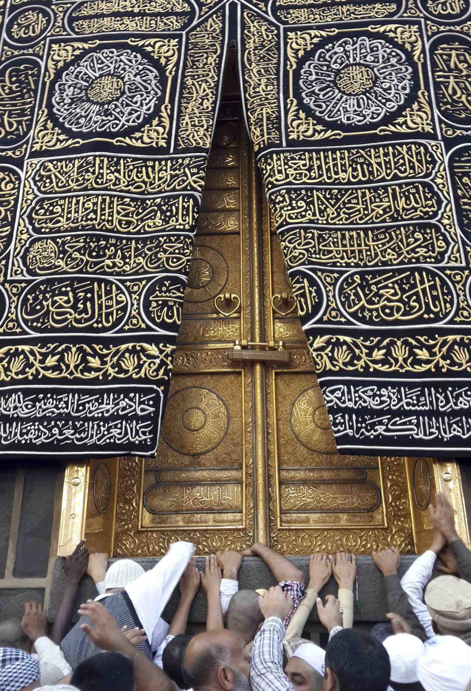
[[244,527],[244,372],[174,374],[141,529]]

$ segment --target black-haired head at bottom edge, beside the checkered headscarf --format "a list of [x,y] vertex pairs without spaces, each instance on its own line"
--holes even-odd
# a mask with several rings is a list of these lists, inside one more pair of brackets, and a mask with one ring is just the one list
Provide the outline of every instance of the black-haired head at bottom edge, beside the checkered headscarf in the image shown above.
[[118,652],[99,652],[75,668],[70,684],[80,691],[133,691],[133,663]]

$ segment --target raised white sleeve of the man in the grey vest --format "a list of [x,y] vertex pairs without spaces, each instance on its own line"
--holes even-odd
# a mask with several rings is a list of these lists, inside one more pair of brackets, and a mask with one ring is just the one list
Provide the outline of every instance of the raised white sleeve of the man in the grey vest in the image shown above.
[[160,615],[182,578],[192,554],[192,542],[173,542],[169,551],[153,569],[126,585],[126,592],[131,598],[149,643],[153,638],[154,627],[159,623]]

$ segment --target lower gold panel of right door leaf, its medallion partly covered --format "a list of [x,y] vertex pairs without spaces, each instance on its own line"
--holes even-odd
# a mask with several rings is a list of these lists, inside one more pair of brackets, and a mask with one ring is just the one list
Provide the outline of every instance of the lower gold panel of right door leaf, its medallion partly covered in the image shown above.
[[336,453],[313,373],[272,377],[278,527],[385,527],[380,460]]

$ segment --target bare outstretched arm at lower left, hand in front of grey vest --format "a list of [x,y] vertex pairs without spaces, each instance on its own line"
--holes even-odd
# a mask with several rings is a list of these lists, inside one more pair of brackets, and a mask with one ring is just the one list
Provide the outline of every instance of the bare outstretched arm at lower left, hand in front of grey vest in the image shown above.
[[157,665],[134,647],[119,630],[115,618],[102,603],[88,602],[80,606],[79,614],[88,616],[95,625],[82,624],[91,641],[102,650],[120,652],[134,665],[136,691],[177,691],[177,685]]

